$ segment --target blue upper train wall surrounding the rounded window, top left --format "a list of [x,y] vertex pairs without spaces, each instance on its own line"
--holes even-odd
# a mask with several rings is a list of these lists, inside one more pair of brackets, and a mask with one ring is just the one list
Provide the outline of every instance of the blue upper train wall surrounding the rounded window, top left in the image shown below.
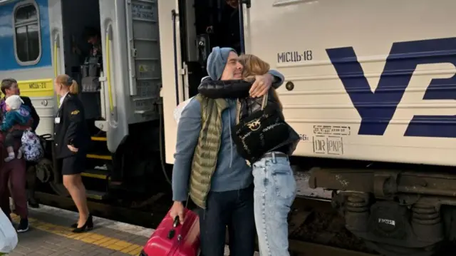
[[41,26],[41,58],[34,65],[21,66],[14,55],[13,24],[14,6],[20,1],[0,5],[0,71],[7,71],[17,68],[35,68],[51,66],[51,35],[49,29],[48,0],[36,0],[39,9]]

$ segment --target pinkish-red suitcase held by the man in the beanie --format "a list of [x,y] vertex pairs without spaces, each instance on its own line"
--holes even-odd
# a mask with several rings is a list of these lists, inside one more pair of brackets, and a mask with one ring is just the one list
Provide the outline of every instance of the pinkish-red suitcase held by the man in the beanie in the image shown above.
[[147,241],[140,256],[197,256],[199,255],[199,218],[185,209],[185,221],[172,220],[170,213]]

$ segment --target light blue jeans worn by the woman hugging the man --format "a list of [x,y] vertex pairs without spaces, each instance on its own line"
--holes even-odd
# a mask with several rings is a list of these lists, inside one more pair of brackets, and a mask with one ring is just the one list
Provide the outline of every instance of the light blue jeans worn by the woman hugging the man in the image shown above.
[[296,197],[288,158],[261,158],[253,164],[254,212],[261,256],[289,256],[287,217]]

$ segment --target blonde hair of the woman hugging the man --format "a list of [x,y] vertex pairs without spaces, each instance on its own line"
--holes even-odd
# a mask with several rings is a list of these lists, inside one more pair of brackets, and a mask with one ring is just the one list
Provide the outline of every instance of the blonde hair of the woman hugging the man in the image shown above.
[[[263,76],[269,72],[271,66],[266,61],[261,60],[261,58],[254,56],[253,54],[243,54],[239,56],[239,62],[244,66],[244,71],[242,71],[242,78],[245,81],[254,81],[255,76]],[[279,103],[280,111],[283,110],[282,103],[277,95],[276,89],[272,88],[272,96]]]

